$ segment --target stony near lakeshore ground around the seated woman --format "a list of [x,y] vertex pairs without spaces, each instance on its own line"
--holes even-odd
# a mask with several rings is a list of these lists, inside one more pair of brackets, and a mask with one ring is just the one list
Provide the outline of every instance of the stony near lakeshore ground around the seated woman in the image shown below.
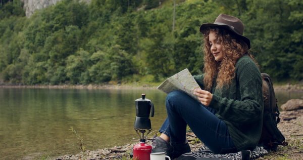
[[[278,124],[279,130],[285,136],[288,146],[279,146],[276,151],[259,157],[258,159],[278,160],[278,159],[303,159],[303,109],[293,111],[283,111],[280,114],[281,122]],[[193,133],[187,134],[187,139],[192,151],[198,150],[203,143],[197,140]],[[151,143],[150,141],[148,142]],[[94,151],[80,152],[76,155],[63,155],[51,159],[130,159],[129,153],[134,144],[115,146],[113,148],[98,149]]]

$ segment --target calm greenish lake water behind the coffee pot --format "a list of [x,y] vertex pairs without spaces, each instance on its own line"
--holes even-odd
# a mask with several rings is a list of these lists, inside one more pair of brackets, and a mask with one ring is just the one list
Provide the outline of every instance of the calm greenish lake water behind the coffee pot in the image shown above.
[[[42,154],[59,156],[80,151],[73,128],[88,150],[135,143],[134,100],[141,94],[154,102],[151,126],[166,118],[166,94],[153,89],[5,89],[0,88],[0,159]],[[279,106],[302,92],[277,92]]]

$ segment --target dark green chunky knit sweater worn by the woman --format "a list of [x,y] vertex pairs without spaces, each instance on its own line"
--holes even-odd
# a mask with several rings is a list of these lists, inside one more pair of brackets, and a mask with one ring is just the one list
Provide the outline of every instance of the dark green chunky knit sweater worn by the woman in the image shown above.
[[[194,79],[204,88],[204,74]],[[236,63],[235,77],[229,88],[220,91],[213,86],[213,99],[209,107],[217,110],[216,116],[228,126],[238,151],[253,150],[261,137],[263,121],[262,76],[256,63],[247,55]]]

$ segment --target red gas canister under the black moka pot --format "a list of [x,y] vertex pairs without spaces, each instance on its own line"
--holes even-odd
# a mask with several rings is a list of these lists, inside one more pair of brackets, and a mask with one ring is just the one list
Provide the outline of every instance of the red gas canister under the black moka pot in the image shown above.
[[151,146],[145,143],[145,139],[140,139],[140,143],[133,147],[133,158],[139,160],[150,160]]

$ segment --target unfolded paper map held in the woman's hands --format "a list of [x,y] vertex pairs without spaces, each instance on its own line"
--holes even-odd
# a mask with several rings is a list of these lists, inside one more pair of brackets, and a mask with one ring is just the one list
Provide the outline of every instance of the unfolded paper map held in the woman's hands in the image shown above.
[[194,90],[198,88],[200,88],[199,85],[187,68],[167,78],[159,87],[157,87],[158,90],[161,90],[166,94],[176,90],[185,92],[199,102],[198,97],[193,94]]

